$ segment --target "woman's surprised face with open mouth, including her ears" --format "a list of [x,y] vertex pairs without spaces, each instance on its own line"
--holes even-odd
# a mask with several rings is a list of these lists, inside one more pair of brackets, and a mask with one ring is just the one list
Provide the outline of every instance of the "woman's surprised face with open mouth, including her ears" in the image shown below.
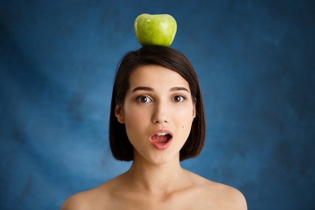
[[134,160],[164,164],[185,144],[196,116],[188,82],[159,65],[137,67],[130,75],[124,104],[116,117],[125,123]]

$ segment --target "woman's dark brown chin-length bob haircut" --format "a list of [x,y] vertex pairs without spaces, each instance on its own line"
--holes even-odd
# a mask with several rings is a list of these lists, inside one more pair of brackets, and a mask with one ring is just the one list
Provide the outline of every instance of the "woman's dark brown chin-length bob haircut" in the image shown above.
[[126,53],[117,69],[109,122],[109,143],[114,158],[120,161],[133,160],[133,147],[127,137],[125,124],[118,122],[115,116],[115,108],[116,105],[124,103],[130,74],[143,65],[160,65],[169,68],[188,82],[193,102],[196,103],[196,117],[187,141],[180,150],[180,161],[198,156],[205,139],[205,113],[197,75],[189,60],[181,52],[170,47],[154,45]]

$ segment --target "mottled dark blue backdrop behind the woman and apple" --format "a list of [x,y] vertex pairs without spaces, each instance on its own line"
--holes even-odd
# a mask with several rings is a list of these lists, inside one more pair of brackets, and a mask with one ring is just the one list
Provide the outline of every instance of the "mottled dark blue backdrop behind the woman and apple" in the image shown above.
[[313,1],[0,1],[0,208],[58,209],[128,169],[108,118],[133,21],[168,13],[193,63],[204,150],[182,166],[240,189],[249,209],[315,208]]

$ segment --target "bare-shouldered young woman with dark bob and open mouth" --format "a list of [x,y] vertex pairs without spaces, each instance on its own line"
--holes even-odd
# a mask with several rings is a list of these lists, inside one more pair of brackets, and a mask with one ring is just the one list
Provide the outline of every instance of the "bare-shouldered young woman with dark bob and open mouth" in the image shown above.
[[170,47],[127,53],[111,102],[109,141],[130,169],[70,196],[62,210],[247,209],[243,194],[183,169],[205,138],[199,82],[189,60]]

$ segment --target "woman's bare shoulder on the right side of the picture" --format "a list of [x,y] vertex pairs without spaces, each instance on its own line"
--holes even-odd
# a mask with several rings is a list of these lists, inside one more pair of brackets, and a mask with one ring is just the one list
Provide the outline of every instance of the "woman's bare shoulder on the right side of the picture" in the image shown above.
[[[197,175],[198,176],[198,175]],[[197,178],[202,198],[215,209],[247,210],[247,202],[242,192],[234,187],[213,182],[203,177]]]

